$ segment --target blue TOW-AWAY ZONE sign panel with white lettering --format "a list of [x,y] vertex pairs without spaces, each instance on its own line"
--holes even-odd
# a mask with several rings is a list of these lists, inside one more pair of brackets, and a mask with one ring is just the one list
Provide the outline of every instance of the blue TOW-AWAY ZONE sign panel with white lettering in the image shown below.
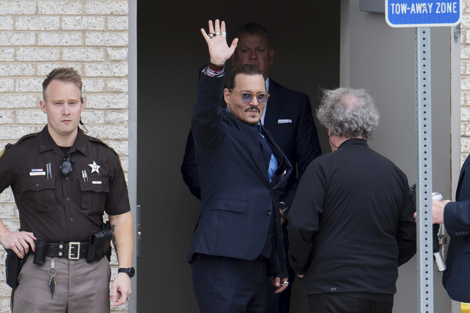
[[461,0],[385,0],[385,21],[392,27],[453,26],[460,23]]

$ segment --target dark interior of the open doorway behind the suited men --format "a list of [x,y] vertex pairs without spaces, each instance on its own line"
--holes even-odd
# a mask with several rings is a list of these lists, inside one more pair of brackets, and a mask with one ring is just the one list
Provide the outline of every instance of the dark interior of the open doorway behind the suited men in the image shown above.
[[[138,312],[198,312],[192,291],[189,242],[199,201],[180,173],[196,90],[208,53],[199,29],[209,19],[257,22],[275,49],[270,76],[306,93],[312,108],[319,89],[339,85],[340,1],[138,1],[138,192],[141,258]],[[323,152],[325,128],[317,123]],[[300,284],[291,312],[305,312]]]

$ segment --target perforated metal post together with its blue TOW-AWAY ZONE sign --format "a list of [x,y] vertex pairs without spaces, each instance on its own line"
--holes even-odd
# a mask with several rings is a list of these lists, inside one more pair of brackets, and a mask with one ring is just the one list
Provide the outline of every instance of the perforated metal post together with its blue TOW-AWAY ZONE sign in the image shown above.
[[416,211],[418,313],[434,313],[432,251],[431,36],[430,26],[454,26],[461,0],[385,0],[385,21],[416,27]]

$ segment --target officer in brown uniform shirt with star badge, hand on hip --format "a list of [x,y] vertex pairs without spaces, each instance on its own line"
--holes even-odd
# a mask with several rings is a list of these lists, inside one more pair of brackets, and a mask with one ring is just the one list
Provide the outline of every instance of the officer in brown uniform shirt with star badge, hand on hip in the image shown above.
[[[73,69],[50,72],[40,102],[47,125],[0,150],[0,192],[11,186],[20,216],[18,232],[0,221],[0,243],[26,258],[12,291],[15,313],[109,312],[109,300],[121,305],[131,293],[133,232],[124,173],[118,154],[78,127],[81,88]],[[103,212],[111,232],[100,233]],[[111,296],[110,265],[98,251],[106,241],[102,233],[113,238],[118,255]],[[36,262],[41,253],[42,265]]]

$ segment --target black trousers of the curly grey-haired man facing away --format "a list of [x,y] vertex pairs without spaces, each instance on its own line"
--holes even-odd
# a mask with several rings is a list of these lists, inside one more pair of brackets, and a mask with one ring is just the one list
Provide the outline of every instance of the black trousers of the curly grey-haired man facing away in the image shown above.
[[309,313],[392,313],[393,301],[377,302],[338,293],[308,296]]

